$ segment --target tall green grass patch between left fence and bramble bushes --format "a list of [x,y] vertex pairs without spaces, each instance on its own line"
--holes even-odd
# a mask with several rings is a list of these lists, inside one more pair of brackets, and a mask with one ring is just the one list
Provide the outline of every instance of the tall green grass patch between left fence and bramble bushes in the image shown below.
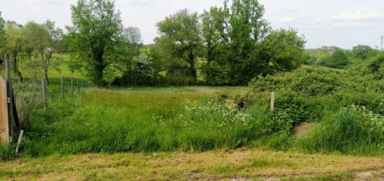
[[[256,139],[253,123],[245,124],[237,107],[223,102],[216,108],[219,104],[210,105],[211,99],[198,92],[92,89],[54,101],[36,114],[23,154],[205,151],[242,147]],[[189,110],[188,101],[195,102],[195,110]],[[237,118],[224,125],[226,111]]]

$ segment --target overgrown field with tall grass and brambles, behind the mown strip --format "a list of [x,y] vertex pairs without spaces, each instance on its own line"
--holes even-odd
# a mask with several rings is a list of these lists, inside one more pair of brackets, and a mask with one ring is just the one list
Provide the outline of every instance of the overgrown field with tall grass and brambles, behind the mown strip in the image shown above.
[[[264,147],[380,156],[382,58],[348,71],[304,66],[255,78],[249,87],[81,89],[65,99],[54,78],[47,110],[40,91],[21,86],[26,130],[21,155]],[[16,157],[14,146],[2,147],[1,158]]]

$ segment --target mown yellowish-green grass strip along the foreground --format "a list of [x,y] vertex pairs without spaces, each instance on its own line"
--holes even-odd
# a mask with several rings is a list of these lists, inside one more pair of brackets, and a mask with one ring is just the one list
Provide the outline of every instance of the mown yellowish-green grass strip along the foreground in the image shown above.
[[[1,180],[352,180],[380,178],[384,160],[265,150],[54,155],[1,162]],[[372,174],[371,174],[372,173]],[[371,174],[371,175],[370,175]]]

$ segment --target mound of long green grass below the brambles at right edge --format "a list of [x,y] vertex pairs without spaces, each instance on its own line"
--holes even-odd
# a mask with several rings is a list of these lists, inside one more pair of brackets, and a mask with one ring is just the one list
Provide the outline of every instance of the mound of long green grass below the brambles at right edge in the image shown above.
[[[383,102],[384,103],[384,102]],[[382,153],[384,117],[352,106],[329,115],[297,144],[309,152]]]

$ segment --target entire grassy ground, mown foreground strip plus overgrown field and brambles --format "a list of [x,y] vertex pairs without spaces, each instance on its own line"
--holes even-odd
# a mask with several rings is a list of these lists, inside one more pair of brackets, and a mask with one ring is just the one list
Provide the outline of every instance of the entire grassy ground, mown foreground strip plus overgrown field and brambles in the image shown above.
[[15,144],[0,148],[0,178],[381,178],[384,84],[369,69],[377,60],[347,70],[302,66],[248,87],[99,89],[68,68],[52,70],[47,109],[40,85],[14,84],[25,134],[19,154]]

